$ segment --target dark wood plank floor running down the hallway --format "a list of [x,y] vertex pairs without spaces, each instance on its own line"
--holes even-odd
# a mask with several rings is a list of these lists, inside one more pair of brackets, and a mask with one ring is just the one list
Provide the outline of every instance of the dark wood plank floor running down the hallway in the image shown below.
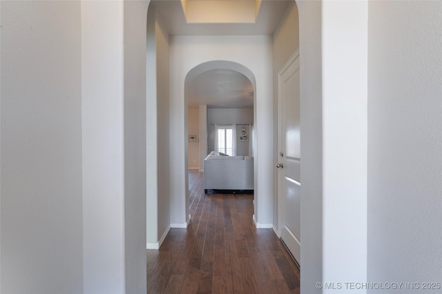
[[299,270],[271,229],[253,226],[253,195],[204,195],[189,171],[191,224],[147,251],[148,293],[299,293]]

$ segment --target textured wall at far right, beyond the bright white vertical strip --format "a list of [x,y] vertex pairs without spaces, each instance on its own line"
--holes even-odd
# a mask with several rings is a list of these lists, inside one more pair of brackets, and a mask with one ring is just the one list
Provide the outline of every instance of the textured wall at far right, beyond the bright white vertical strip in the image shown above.
[[442,276],[441,28],[441,1],[369,2],[369,281]]

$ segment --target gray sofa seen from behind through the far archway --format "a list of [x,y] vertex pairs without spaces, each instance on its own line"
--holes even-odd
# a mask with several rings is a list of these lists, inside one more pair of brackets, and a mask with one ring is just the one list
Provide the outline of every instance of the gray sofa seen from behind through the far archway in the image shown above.
[[204,193],[207,190],[253,190],[253,157],[212,151],[204,159]]

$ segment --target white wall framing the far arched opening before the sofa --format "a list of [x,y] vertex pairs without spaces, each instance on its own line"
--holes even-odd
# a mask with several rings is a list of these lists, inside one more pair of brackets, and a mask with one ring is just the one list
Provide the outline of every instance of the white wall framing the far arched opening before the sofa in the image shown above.
[[[182,57],[186,58],[183,59]],[[256,202],[255,217],[262,224],[273,221],[273,99],[270,36],[198,36],[171,38],[171,218],[186,222],[189,206],[186,183],[186,101],[184,80],[195,66],[206,61],[233,61],[249,68],[256,77],[255,130]],[[260,62],[256,62],[260,60]],[[270,110],[270,111],[269,111]]]

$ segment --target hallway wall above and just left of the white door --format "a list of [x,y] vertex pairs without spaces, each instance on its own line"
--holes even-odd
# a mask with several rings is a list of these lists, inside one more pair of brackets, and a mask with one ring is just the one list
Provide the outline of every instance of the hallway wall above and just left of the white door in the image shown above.
[[[273,166],[278,164],[278,72],[299,48],[298,6],[295,1],[289,2],[285,14],[273,33]],[[275,168],[273,181],[278,183]],[[278,228],[278,185],[273,192],[273,225]]]

